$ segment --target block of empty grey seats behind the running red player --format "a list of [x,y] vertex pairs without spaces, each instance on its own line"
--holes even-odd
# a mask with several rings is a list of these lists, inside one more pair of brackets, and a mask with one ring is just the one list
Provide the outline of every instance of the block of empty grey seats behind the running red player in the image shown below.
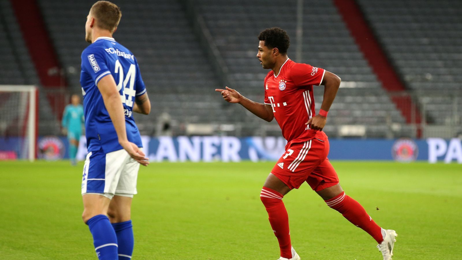
[[[278,26],[285,29],[291,37],[288,56],[294,59],[297,1],[197,2],[231,76],[237,82],[234,87],[262,102],[263,79],[268,71],[261,68],[256,58],[257,36],[265,28]],[[405,120],[377,81],[332,1],[304,1],[303,35],[302,62],[325,68],[343,80],[325,131],[338,136],[339,125],[359,124],[365,125],[366,136],[395,136],[389,132],[388,125],[404,124]],[[315,87],[316,110],[321,106],[322,91],[323,87]],[[240,107],[232,109],[234,114],[245,115]],[[404,130],[402,135],[412,136],[413,133]]]

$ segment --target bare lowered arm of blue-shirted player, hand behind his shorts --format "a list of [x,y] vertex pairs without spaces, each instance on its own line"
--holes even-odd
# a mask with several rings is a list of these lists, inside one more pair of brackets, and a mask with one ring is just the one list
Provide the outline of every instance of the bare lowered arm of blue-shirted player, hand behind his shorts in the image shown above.
[[109,117],[116,129],[119,143],[128,154],[138,161],[140,164],[147,166],[149,164],[145,154],[134,144],[129,142],[127,138],[127,130],[125,129],[125,115],[123,113],[123,105],[120,99],[120,94],[117,91],[116,81],[111,74],[104,76],[98,82],[98,89],[103,96],[104,106],[108,110]]

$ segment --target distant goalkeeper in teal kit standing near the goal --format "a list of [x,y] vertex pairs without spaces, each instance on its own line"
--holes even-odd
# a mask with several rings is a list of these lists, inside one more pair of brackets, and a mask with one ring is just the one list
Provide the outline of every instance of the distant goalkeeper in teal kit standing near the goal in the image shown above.
[[79,96],[73,94],[71,97],[71,104],[64,108],[61,122],[63,133],[65,135],[67,134],[67,140],[69,141],[69,158],[71,159],[72,165],[76,165],[75,155],[77,155],[83,123],[84,108],[80,105]]

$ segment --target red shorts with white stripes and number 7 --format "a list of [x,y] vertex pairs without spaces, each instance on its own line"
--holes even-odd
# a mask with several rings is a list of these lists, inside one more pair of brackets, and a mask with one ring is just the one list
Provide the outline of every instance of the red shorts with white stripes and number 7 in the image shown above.
[[327,155],[329,141],[313,138],[292,144],[279,158],[271,173],[289,188],[298,189],[304,181],[318,192],[339,183],[339,177]]

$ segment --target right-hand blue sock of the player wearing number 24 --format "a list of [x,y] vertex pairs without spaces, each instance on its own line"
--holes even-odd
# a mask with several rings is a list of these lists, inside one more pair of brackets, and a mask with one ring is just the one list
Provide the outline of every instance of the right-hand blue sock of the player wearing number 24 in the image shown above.
[[134,247],[132,221],[112,223],[112,227],[116,231],[119,242],[119,260],[130,260]]

